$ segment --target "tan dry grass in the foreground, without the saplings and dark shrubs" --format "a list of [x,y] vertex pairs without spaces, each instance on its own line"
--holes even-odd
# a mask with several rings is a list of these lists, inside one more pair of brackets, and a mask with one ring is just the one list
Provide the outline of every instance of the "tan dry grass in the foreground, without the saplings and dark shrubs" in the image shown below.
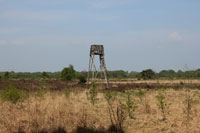
[[[0,101],[0,132],[12,133],[24,131],[27,133],[65,129],[74,132],[78,125],[86,123],[90,128],[105,128],[110,126],[108,105],[103,93],[98,93],[98,101],[94,106],[87,100],[86,91],[72,92],[66,97],[63,91],[51,91],[42,97],[31,94],[28,99],[17,104]],[[133,90],[132,94],[134,94]],[[155,96],[158,90],[147,91],[141,101],[132,95],[138,108],[134,112],[135,119],[128,118],[124,124],[127,133],[199,133],[200,103],[192,106],[191,119],[187,120],[185,110],[186,89],[167,89],[166,120],[157,106]],[[190,94],[200,93],[191,90]],[[194,97],[199,100],[199,95]],[[125,100],[125,94],[117,94],[117,100]],[[115,102],[117,103],[117,102]]]

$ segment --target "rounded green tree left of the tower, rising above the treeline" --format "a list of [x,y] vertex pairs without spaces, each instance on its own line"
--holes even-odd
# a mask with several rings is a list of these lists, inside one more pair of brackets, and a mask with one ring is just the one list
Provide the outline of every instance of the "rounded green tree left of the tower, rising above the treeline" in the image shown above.
[[65,80],[72,80],[75,78],[76,71],[74,70],[73,65],[69,65],[69,67],[64,68],[61,71],[61,78]]

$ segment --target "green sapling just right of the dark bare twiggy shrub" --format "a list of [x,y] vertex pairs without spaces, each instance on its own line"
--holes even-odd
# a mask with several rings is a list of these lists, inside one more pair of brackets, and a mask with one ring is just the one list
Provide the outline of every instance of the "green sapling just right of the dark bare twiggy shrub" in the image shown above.
[[126,108],[127,108],[129,117],[134,118],[133,113],[135,112],[137,105],[135,104],[135,101],[131,98],[130,91],[127,91]]

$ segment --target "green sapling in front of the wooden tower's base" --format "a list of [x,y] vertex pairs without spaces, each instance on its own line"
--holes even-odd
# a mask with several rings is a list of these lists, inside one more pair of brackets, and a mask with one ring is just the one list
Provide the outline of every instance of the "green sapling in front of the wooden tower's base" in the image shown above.
[[98,95],[95,82],[92,82],[92,87],[89,90],[89,92],[86,92],[86,95],[88,100],[90,100],[90,102],[94,105],[97,101],[97,95]]

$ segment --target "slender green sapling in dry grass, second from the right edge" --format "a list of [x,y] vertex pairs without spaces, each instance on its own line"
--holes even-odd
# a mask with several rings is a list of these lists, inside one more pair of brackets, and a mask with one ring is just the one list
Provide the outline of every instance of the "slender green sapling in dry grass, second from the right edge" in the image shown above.
[[163,120],[166,120],[166,102],[165,102],[165,93],[163,91],[160,91],[158,95],[156,96],[156,99],[158,100],[158,107],[162,112]]

